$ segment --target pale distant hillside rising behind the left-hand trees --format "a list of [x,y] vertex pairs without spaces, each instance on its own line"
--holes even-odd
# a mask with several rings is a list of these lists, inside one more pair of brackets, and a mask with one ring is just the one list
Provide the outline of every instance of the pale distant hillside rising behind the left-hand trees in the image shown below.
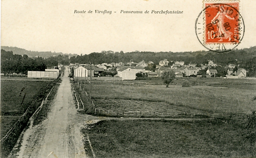
[[8,47],[8,46],[1,46],[1,49],[5,50],[5,51],[12,51],[13,54],[20,54],[20,55],[28,55],[28,57],[43,57],[43,58],[49,58],[51,56],[58,56],[58,55],[68,55],[68,56],[76,56],[77,54],[63,54],[61,52],[59,53],[53,53],[53,52],[37,52],[37,51],[27,51],[25,49],[22,48],[18,48],[18,47]]

